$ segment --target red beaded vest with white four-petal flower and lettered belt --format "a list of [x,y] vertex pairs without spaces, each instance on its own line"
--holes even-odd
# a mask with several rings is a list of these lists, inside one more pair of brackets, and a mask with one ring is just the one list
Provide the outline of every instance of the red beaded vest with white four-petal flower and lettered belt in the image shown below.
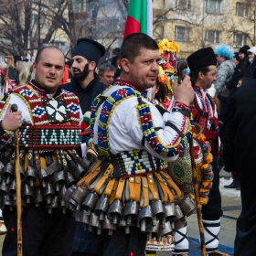
[[[38,92],[39,91],[39,92]],[[19,145],[29,149],[76,148],[80,146],[80,104],[71,92],[62,91],[57,99],[38,95],[33,85],[16,86],[10,93],[26,104],[33,124],[19,128]],[[41,97],[42,96],[42,97]],[[0,113],[9,101],[0,101]]]

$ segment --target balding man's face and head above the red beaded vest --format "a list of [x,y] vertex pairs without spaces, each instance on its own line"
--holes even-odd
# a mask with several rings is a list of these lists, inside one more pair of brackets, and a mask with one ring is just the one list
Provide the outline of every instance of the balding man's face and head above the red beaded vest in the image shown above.
[[33,63],[35,80],[49,93],[55,93],[64,75],[65,59],[58,48],[45,48],[38,59]]

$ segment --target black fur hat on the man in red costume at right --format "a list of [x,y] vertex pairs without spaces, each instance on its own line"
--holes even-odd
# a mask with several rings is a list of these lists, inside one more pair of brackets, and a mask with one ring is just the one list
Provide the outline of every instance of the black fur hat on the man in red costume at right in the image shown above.
[[216,64],[217,59],[212,48],[200,48],[187,57],[187,65],[191,71]]

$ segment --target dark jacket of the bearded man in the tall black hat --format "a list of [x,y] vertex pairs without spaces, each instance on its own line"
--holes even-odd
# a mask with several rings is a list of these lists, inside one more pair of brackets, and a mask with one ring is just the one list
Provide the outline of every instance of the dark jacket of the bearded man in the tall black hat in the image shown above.
[[81,88],[78,80],[61,85],[61,89],[74,92],[79,97],[81,111],[85,113],[91,111],[92,101],[106,89],[106,86],[100,82],[98,75],[94,74],[94,80],[91,80],[85,89]]

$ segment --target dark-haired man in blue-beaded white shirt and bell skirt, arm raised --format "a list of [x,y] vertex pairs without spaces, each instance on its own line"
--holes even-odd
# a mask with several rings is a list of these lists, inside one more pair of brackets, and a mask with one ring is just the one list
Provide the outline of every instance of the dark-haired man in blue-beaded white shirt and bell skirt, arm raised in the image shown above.
[[99,255],[144,255],[146,242],[152,250],[173,248],[171,222],[175,208],[180,211],[175,203],[184,198],[165,173],[165,161],[176,160],[191,138],[193,121],[187,106],[194,91],[188,77],[180,86],[174,84],[175,108],[164,123],[146,97],[146,89],[155,85],[159,60],[152,37],[126,37],[121,79],[92,104],[91,129],[99,160],[78,183],[85,199],[77,201],[81,210],[76,219],[97,230]]

